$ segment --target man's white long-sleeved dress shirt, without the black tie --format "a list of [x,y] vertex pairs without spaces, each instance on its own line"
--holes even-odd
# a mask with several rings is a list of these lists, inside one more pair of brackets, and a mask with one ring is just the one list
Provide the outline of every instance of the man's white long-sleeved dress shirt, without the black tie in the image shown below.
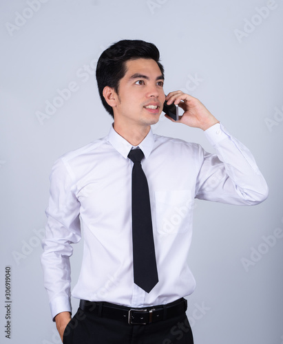
[[52,317],[71,311],[72,244],[84,237],[81,273],[72,296],[133,308],[191,294],[187,264],[195,198],[258,204],[268,187],[250,151],[218,123],[205,131],[217,154],[199,144],[149,131],[145,154],[159,281],[147,293],[136,284],[132,261],[132,144],[113,127],[105,138],[63,155],[50,176],[42,265]]

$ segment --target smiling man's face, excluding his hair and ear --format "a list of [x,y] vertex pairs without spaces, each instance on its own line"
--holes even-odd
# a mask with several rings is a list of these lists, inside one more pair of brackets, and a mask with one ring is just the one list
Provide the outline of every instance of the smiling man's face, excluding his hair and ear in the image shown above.
[[163,110],[163,76],[152,59],[127,61],[127,72],[120,79],[114,122],[124,126],[154,125]]

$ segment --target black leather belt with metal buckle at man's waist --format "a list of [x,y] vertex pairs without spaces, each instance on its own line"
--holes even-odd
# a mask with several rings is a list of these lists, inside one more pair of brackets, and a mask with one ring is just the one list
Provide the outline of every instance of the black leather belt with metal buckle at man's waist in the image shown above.
[[108,302],[81,300],[80,308],[103,318],[124,321],[132,325],[146,325],[185,313],[187,300],[182,298],[167,303],[167,305],[156,305],[147,308],[130,308]]

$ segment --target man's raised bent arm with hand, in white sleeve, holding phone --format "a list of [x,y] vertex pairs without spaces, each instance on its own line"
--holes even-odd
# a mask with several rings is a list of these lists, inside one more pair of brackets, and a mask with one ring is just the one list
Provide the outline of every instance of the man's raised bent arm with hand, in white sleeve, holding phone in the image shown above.
[[196,198],[227,204],[263,202],[269,189],[249,149],[233,138],[200,100],[181,91],[171,92],[166,99],[185,111],[180,120],[172,121],[204,130],[217,152],[209,154],[199,147]]

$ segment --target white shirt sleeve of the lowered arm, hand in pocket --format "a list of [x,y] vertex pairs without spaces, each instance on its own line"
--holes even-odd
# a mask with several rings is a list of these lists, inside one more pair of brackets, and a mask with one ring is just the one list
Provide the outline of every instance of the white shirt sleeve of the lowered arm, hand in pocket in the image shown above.
[[55,162],[50,175],[50,200],[45,213],[48,221],[42,242],[41,264],[48,291],[52,319],[60,312],[71,312],[70,256],[72,244],[81,239],[79,208],[73,192],[71,173],[62,159]]

